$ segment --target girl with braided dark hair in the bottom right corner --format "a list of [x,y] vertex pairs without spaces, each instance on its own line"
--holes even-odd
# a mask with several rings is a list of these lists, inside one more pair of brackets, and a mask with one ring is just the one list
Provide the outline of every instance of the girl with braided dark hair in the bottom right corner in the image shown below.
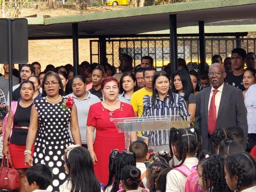
[[255,192],[256,163],[246,152],[229,155],[225,160],[228,187],[237,192]]

